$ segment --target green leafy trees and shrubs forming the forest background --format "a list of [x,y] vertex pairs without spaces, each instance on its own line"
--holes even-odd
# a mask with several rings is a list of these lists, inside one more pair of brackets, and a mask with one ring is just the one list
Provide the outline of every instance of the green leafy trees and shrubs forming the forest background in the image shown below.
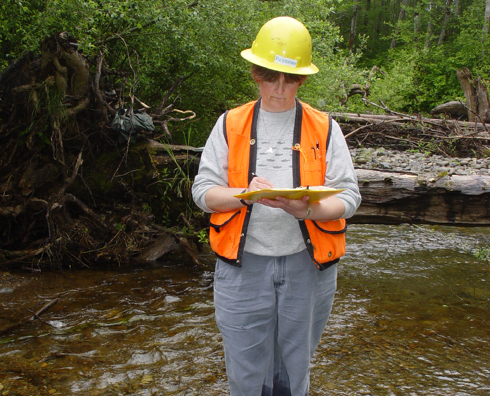
[[[87,56],[102,45],[108,67],[129,72],[126,85],[148,105],[183,76],[172,100],[197,120],[172,136],[200,146],[224,110],[257,97],[240,51],[280,15],[311,33],[320,72],[298,96],[322,110],[376,112],[360,96],[344,99],[370,82],[370,100],[427,113],[464,100],[456,69],[490,79],[490,0],[3,0],[0,70],[67,31]],[[370,75],[374,65],[382,73]]]

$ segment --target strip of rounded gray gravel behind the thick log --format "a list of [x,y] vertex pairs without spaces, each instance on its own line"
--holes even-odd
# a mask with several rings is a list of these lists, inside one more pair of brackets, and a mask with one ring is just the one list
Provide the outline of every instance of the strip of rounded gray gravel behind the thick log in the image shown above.
[[384,148],[351,148],[355,168],[414,173],[447,173],[449,175],[490,175],[490,157],[447,157],[422,152],[385,150]]

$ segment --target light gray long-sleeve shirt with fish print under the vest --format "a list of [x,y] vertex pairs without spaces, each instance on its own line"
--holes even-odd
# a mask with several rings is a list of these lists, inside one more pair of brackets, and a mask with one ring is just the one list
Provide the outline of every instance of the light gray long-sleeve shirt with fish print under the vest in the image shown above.
[[[266,177],[277,188],[293,188],[291,146],[295,112],[295,108],[281,113],[259,111],[256,174]],[[330,133],[324,186],[345,189],[336,197],[345,206],[343,218],[349,218],[361,203],[357,177],[342,130],[335,121],[332,121]],[[223,135],[223,115],[209,135],[192,187],[194,201],[205,212],[213,212],[206,206],[205,196],[215,186],[228,187],[228,145]],[[282,209],[253,205],[245,251],[265,256],[284,256],[298,253],[304,248],[299,224],[294,216]]]

